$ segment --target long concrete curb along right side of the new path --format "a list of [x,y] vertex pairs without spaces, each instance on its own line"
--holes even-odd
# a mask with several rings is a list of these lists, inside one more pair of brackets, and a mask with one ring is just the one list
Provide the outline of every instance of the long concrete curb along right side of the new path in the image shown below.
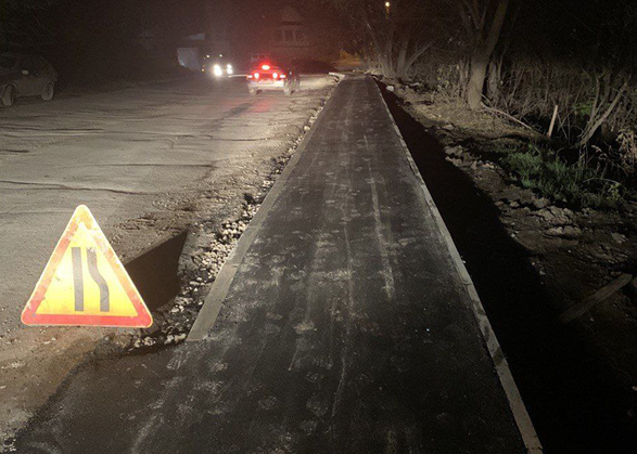
[[445,243],[447,245],[447,249],[449,250],[449,255],[451,256],[451,260],[454,261],[454,264],[455,264],[456,269],[458,270],[458,274],[460,274],[460,278],[462,281],[462,284],[464,284],[464,287],[467,289],[467,294],[469,295],[469,298],[471,299],[473,314],[475,315],[475,319],[476,319],[477,324],[480,326],[480,330],[482,333],[482,337],[484,339],[486,348],[487,348],[487,350],[492,356],[492,360],[494,362],[494,366],[495,366],[496,373],[498,374],[500,384],[505,390],[505,393],[507,394],[507,399],[509,401],[509,406],[510,406],[511,412],[513,414],[513,418],[515,419],[515,424],[518,425],[518,429],[520,430],[520,434],[522,436],[522,440],[524,442],[524,445],[526,446],[526,452],[530,454],[540,454],[544,452],[544,450],[542,447],[542,443],[539,442],[539,439],[538,439],[537,433],[535,431],[535,427],[533,426],[533,421],[531,420],[531,417],[528,416],[528,413],[526,411],[526,406],[524,405],[524,402],[522,401],[522,397],[520,395],[520,391],[518,390],[518,386],[515,385],[515,380],[513,379],[513,375],[511,374],[511,369],[509,368],[509,363],[507,362],[507,359],[505,358],[505,354],[502,352],[500,343],[498,342],[498,339],[496,338],[496,335],[493,330],[491,322],[486,315],[486,311],[484,310],[484,307],[482,306],[482,301],[480,300],[480,297],[477,295],[475,286],[473,285],[473,281],[471,280],[471,276],[469,275],[469,272],[467,271],[467,267],[464,267],[464,263],[462,262],[462,258],[460,257],[460,254],[458,252],[458,248],[456,247],[456,244],[454,243],[454,239],[451,238],[451,234],[449,233],[447,225],[445,224],[445,221],[443,220],[443,217],[441,216],[441,212],[438,211],[438,209],[437,209],[437,207],[431,196],[431,193],[429,192],[429,189],[426,187],[426,184],[424,183],[424,180],[422,179],[422,176],[420,174],[420,171],[418,170],[418,166],[416,165],[416,163],[413,161],[413,158],[411,157],[411,153],[409,152],[409,147],[407,146],[407,144],[405,143],[405,140],[403,139],[403,134],[400,133],[400,130],[398,129],[398,125],[396,125],[396,120],[394,120],[394,117],[392,116],[392,113],[390,112],[390,107],[387,106],[387,103],[385,102],[378,83],[375,85],[375,87],[379,91],[381,99],[383,100],[383,105],[385,106],[385,111],[387,112],[387,115],[392,119],[392,124],[394,125],[394,130],[396,131],[396,134],[398,135],[398,139],[400,140],[400,144],[403,145],[403,148],[405,151],[405,156],[407,157],[407,160],[409,161],[409,167],[411,168],[411,171],[416,176],[416,178],[420,184],[420,187],[422,189],[422,193],[424,195],[425,203],[433,213],[433,217],[436,222],[436,226],[438,228],[441,235],[445,239]]

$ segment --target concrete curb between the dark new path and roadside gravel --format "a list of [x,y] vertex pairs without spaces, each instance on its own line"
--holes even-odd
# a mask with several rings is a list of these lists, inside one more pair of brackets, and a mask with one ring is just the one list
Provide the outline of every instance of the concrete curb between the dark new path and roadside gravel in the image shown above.
[[230,252],[230,256],[228,256],[228,259],[221,267],[219,274],[217,274],[217,278],[213,283],[211,291],[206,296],[204,304],[202,306],[196,316],[196,320],[194,321],[194,324],[192,325],[192,328],[190,329],[190,333],[186,338],[187,341],[204,340],[207,337],[211,329],[213,328],[213,326],[215,325],[217,316],[219,315],[219,311],[221,310],[222,302],[226,299],[228,290],[230,289],[230,285],[232,284],[234,275],[239,270],[239,265],[243,261],[243,258],[250,249],[250,246],[252,246],[252,243],[254,242],[254,238],[258,230],[260,229],[262,224],[266,220],[270,209],[279,198],[279,195],[281,194],[283,186],[285,185],[285,182],[290,178],[290,174],[294,171],[294,168],[296,167],[298,159],[301,159],[301,155],[303,154],[305,147],[307,146],[310,139],[314,137],[314,133],[317,130],[317,126],[322,121],[324,117],[324,112],[330,106],[332,95],[333,93],[330,94],[330,98],[323,105],[323,108],[319,113],[313,127],[303,138],[303,141],[296,148],[296,152],[294,153],[294,155],[283,169],[283,172],[279,176],[277,181],[266,195],[266,198],[259,206],[254,218],[252,218],[252,220],[247,224],[247,228],[239,238],[237,246],[234,247],[232,252]]

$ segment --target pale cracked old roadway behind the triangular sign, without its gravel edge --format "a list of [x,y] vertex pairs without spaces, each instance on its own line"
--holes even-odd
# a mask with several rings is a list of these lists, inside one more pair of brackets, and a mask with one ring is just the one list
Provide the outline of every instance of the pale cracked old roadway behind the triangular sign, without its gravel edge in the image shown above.
[[266,157],[303,101],[193,79],[0,109],[0,332],[20,326],[14,302],[26,302],[76,206],[116,235],[165,211],[153,203],[167,194]]

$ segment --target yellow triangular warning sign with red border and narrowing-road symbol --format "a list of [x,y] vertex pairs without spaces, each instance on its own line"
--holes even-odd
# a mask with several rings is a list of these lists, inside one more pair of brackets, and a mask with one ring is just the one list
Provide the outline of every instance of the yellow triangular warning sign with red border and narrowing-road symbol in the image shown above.
[[75,209],[26,307],[26,325],[146,328],[153,319],[89,209]]

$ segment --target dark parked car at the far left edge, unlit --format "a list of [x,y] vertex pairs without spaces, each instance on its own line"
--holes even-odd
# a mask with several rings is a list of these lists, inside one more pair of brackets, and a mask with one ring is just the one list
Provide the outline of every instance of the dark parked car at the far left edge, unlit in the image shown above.
[[0,53],[0,96],[2,105],[11,106],[18,96],[40,95],[51,101],[58,73],[37,55]]

